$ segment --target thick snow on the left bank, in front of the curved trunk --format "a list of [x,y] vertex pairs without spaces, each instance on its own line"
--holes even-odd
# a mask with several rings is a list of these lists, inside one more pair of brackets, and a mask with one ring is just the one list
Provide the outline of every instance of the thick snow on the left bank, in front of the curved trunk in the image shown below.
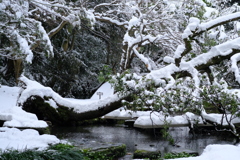
[[19,87],[0,87],[0,120],[6,121],[0,127],[0,150],[8,149],[44,149],[49,144],[59,143],[54,135],[39,135],[34,129],[19,130],[17,128],[45,128],[47,123],[37,119],[37,116],[17,107]]

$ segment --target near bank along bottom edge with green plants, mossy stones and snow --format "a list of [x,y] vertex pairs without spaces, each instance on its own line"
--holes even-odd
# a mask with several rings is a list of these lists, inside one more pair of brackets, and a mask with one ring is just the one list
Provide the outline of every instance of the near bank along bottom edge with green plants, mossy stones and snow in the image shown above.
[[[110,153],[110,152],[109,152]],[[112,152],[114,153],[114,152]],[[46,150],[8,150],[0,154],[1,160],[131,160],[132,156],[124,156],[117,158],[116,155],[110,155],[106,152],[89,152],[87,150],[79,150],[72,145],[57,144],[50,146]],[[238,160],[240,154],[240,145],[208,145],[204,152],[197,157],[191,157],[186,153],[168,154],[164,157],[150,158],[153,160]],[[189,157],[190,156],[190,157]],[[187,158],[179,158],[187,157]],[[145,158],[144,158],[145,159]],[[140,160],[140,159],[135,159]]]

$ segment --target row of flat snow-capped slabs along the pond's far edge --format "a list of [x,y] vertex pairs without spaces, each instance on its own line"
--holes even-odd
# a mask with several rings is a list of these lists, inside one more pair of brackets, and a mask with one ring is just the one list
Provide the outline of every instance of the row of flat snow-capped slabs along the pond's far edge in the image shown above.
[[[221,124],[226,126],[228,125],[226,119],[224,118],[222,120],[222,114],[214,114],[214,113],[204,113],[202,115],[205,119],[210,120],[216,124]],[[227,115],[228,120],[230,119],[230,115]],[[117,109],[115,111],[112,111],[104,116],[105,119],[125,119],[129,120],[132,118],[137,118],[134,127],[137,128],[161,128],[165,125],[166,122],[168,122],[171,126],[189,126],[193,124],[198,125],[205,125],[203,123],[203,120],[200,116],[195,115],[191,112],[187,112],[183,115],[178,116],[168,116],[166,119],[164,118],[164,115],[158,113],[158,112],[152,112],[152,111],[131,111],[131,110],[125,110],[125,109]],[[232,123],[239,124],[240,118],[236,117],[232,119]],[[210,125],[210,124],[209,124]]]

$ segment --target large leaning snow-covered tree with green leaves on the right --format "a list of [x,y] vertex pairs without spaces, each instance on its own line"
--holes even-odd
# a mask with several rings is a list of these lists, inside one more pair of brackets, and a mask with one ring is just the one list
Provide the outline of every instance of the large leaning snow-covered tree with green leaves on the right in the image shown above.
[[207,116],[211,104],[222,115],[219,123],[227,121],[231,131],[239,136],[232,123],[240,111],[239,90],[232,89],[239,88],[239,7],[234,4],[222,8],[224,3],[218,5],[216,1],[192,2],[198,5],[183,9],[184,18],[189,13],[191,16],[182,41],[173,54],[163,58],[167,64],[144,76],[125,73],[113,81],[121,95],[134,97],[125,104],[137,109],[149,108],[166,115],[191,111],[215,123]]

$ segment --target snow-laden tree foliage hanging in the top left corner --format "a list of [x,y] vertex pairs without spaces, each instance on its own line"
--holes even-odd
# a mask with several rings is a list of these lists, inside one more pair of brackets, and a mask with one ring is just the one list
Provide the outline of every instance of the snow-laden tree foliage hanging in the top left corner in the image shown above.
[[[0,56],[13,60],[17,79],[22,60],[31,63],[34,54],[53,56],[50,39],[66,24],[79,28],[81,17],[88,15],[82,6],[64,0],[2,0],[0,16]],[[3,66],[1,71],[7,72],[8,68]]]

